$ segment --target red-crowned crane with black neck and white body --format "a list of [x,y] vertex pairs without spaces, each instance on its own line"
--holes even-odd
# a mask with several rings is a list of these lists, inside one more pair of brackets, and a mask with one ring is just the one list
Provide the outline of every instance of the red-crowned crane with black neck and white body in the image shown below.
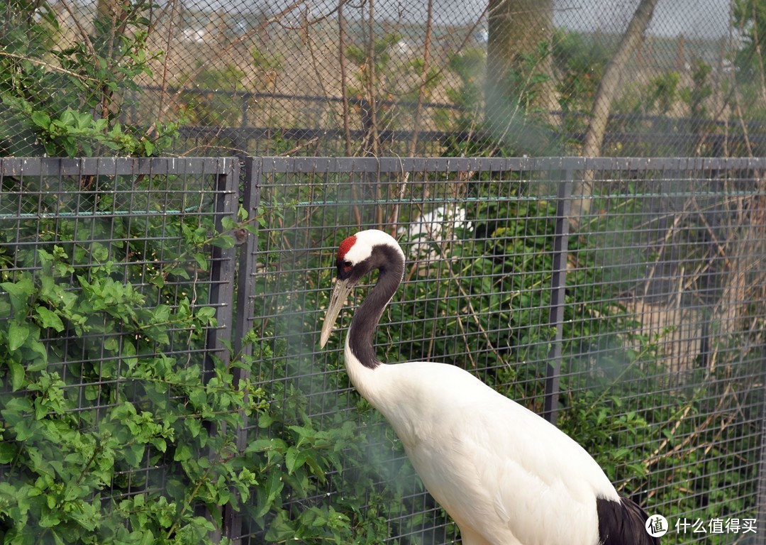
[[342,241],[322,325],[325,346],[355,284],[378,281],[356,310],[345,366],[358,392],[398,435],[425,487],[464,545],[658,545],[647,514],[555,425],[457,366],[385,364],[372,337],[404,276],[404,253],[383,231]]

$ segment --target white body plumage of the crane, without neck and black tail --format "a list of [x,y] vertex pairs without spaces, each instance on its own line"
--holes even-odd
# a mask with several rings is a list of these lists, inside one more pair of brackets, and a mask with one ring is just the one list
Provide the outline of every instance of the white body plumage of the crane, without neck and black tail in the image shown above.
[[594,497],[620,497],[564,432],[455,366],[368,369],[348,343],[345,361],[355,388],[388,419],[427,490],[460,527],[464,545],[597,545]]

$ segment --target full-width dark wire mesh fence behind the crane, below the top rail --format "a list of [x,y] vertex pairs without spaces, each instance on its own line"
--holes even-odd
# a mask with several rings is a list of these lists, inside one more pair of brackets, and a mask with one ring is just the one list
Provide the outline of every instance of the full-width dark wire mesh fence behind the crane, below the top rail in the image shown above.
[[235,159],[5,159],[0,528],[454,543],[343,367],[374,275],[319,349],[340,242],[381,228],[407,258],[382,360],[461,366],[545,415],[667,518],[663,543],[755,542],[764,169],[263,157],[238,187]]

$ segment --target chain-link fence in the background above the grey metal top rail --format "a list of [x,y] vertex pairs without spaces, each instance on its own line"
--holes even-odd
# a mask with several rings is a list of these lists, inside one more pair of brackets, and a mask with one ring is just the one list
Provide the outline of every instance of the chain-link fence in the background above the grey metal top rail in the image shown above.
[[14,0],[0,151],[759,156],[763,12],[762,0]]

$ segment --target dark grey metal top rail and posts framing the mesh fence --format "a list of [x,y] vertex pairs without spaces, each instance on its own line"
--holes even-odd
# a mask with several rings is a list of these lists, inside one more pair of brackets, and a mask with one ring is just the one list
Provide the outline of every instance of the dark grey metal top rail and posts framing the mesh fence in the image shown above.
[[[242,169],[244,166],[244,169]],[[565,300],[569,224],[571,204],[578,198],[576,189],[587,172],[642,171],[647,169],[667,172],[703,172],[715,176],[722,170],[741,169],[748,172],[766,172],[766,159],[584,159],[584,158],[185,158],[185,159],[0,159],[0,179],[3,176],[154,176],[198,175],[214,176],[211,188],[214,202],[211,215],[217,228],[223,227],[223,218],[235,218],[241,205],[254,218],[262,211],[264,186],[276,174],[308,173],[316,176],[354,173],[368,179],[380,179],[386,173],[413,176],[440,174],[459,176],[473,172],[548,172],[548,180],[555,182],[555,251],[552,256],[551,292],[547,309],[548,325],[555,330],[545,370],[545,401],[543,415],[556,422],[558,399],[561,394],[561,343],[565,320]],[[766,198],[766,195],[764,195]],[[117,212],[115,212],[117,213]],[[340,235],[338,235],[340,238]],[[332,251],[320,248],[320,251]],[[236,352],[248,353],[243,339],[254,319],[256,292],[254,277],[259,257],[257,236],[247,236],[237,248],[211,248],[210,294],[207,304],[216,307],[218,327],[207,332],[207,351],[222,360],[229,357],[227,344]],[[328,254],[329,255],[329,254]],[[329,261],[329,258],[328,258]],[[328,267],[330,265],[328,264]],[[248,378],[249,371],[237,369],[240,378]],[[766,391],[766,386],[764,386]],[[761,468],[758,477],[759,513],[761,524],[766,522],[766,405],[761,407]],[[252,426],[247,422],[237,430],[237,445],[247,445]],[[224,507],[224,527],[221,535],[244,539],[241,535],[242,517],[230,507]],[[759,543],[766,543],[766,533],[758,535]]]

